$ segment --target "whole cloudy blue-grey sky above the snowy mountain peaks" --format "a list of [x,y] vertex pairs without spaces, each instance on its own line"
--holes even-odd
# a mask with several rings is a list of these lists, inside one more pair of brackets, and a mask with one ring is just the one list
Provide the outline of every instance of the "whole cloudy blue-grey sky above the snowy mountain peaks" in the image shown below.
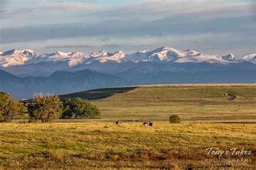
[[207,55],[255,50],[256,1],[0,0],[0,50],[133,53],[169,46]]

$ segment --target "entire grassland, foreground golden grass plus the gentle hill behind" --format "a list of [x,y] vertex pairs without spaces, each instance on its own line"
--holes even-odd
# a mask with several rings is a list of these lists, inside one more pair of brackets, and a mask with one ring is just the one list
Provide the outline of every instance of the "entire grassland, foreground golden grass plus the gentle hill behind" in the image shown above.
[[[127,88],[77,93],[85,99],[100,96],[91,100],[100,119],[0,124],[0,168],[256,168],[256,84]],[[228,101],[225,92],[236,98]],[[171,114],[181,123],[169,124]],[[153,127],[144,127],[149,120]],[[252,153],[219,157],[207,154],[211,147]]]

